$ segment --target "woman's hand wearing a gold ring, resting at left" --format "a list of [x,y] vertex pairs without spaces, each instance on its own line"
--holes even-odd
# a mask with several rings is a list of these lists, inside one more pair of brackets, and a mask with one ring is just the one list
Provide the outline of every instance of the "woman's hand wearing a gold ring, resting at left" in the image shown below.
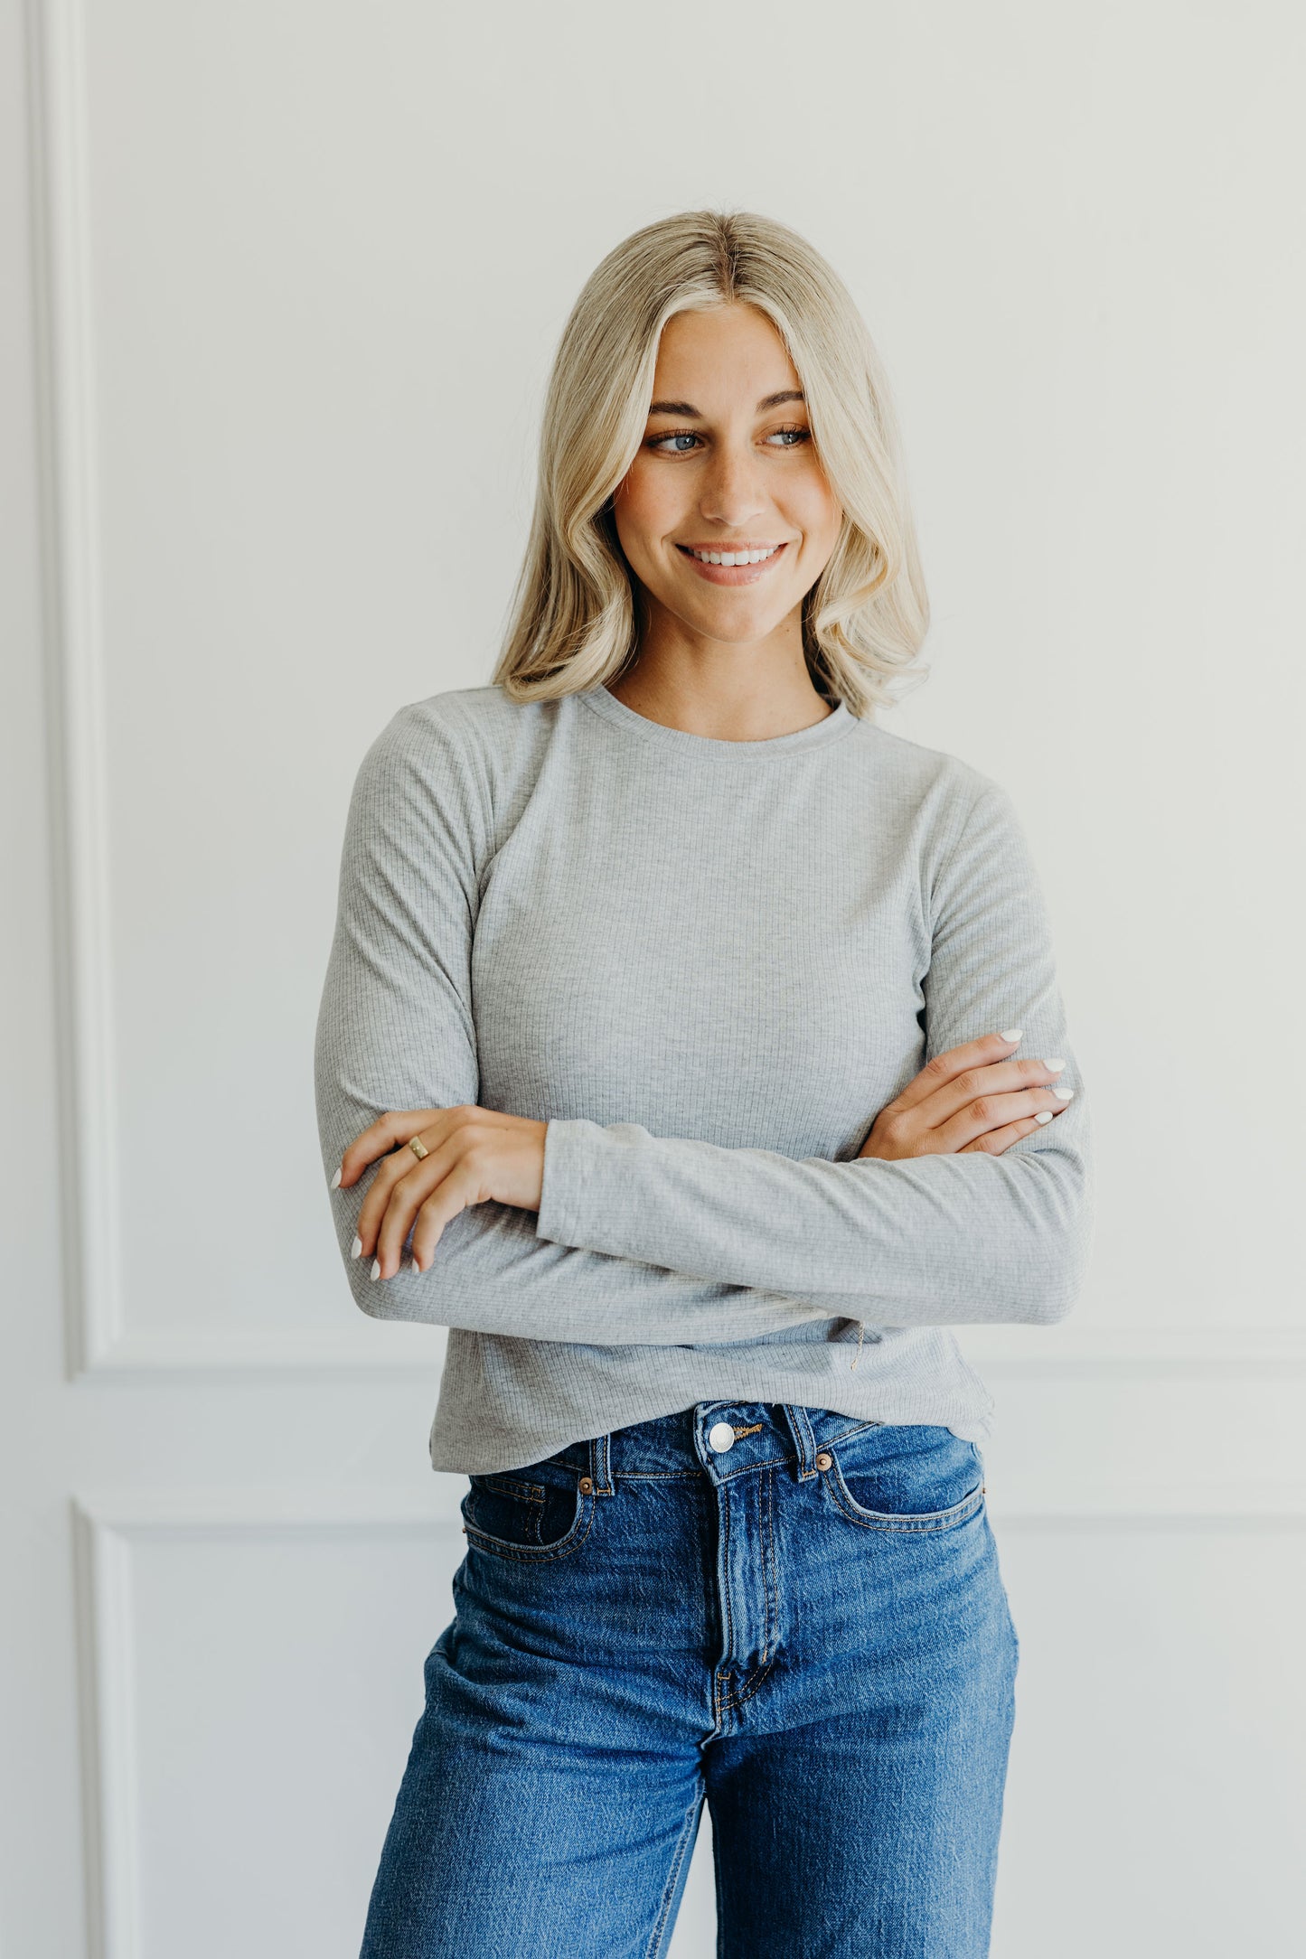
[[[425,1271],[441,1232],[468,1205],[491,1199],[538,1211],[548,1123],[497,1109],[388,1109],[341,1158],[339,1187],[382,1158],[358,1213],[354,1258],[374,1258],[374,1279],[392,1279],[413,1232],[413,1266]],[[417,1136],[427,1148],[409,1150]]]

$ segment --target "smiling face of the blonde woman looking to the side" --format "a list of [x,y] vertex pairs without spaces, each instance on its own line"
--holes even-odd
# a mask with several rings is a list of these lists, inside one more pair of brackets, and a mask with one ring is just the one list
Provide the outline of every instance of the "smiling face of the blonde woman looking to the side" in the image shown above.
[[738,646],[801,631],[842,511],[766,313],[719,306],[666,323],[648,427],[613,511],[650,633]]

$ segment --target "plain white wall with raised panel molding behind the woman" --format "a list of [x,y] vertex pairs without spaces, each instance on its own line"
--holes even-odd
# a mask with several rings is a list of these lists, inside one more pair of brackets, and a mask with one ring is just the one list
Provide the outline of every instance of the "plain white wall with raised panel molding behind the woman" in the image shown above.
[[460,1487],[439,1334],[362,1320],[327,1230],[345,799],[401,701],[488,678],[566,311],[691,204],[867,313],[934,601],[891,725],[1024,811],[1095,1093],[1081,1309],[967,1338],[1022,1632],[995,1955],[1284,1949],[1300,10],[0,20],[0,1953],[356,1951]]

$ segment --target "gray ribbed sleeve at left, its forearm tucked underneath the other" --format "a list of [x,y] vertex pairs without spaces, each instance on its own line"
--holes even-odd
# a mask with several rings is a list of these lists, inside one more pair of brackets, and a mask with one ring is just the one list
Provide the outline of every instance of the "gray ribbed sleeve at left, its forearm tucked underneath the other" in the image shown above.
[[[327,1181],[386,1109],[478,1101],[470,974],[488,801],[464,742],[421,703],[399,709],[358,768],[313,1042]],[[345,1275],[372,1318],[597,1346],[732,1344],[824,1318],[766,1287],[552,1244],[535,1213],[499,1203],[458,1213],[427,1271],[405,1264],[374,1281],[350,1258],[372,1173],[329,1191]]]

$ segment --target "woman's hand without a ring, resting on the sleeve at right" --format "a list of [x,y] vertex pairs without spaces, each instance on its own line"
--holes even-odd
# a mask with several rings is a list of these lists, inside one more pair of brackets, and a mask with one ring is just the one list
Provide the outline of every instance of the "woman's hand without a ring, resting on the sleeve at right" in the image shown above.
[[983,1150],[1001,1156],[1032,1128],[1069,1107],[1075,1089],[1048,1087],[1065,1068],[1010,1060],[1020,1028],[983,1034],[936,1054],[871,1124],[858,1156],[887,1162],[903,1156],[959,1156]]

